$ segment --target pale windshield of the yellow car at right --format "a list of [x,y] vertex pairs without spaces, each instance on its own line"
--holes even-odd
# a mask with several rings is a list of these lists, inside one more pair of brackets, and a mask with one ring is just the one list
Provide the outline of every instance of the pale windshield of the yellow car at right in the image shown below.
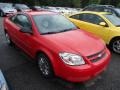
[[112,14],[106,14],[104,15],[113,25],[120,26],[120,18],[112,15]]

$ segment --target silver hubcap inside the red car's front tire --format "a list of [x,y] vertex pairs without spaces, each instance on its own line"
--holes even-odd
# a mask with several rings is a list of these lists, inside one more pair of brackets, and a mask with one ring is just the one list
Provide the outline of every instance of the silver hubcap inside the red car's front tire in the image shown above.
[[42,74],[47,76],[49,74],[49,66],[45,58],[43,57],[39,58],[38,64],[39,64],[39,69],[42,72]]

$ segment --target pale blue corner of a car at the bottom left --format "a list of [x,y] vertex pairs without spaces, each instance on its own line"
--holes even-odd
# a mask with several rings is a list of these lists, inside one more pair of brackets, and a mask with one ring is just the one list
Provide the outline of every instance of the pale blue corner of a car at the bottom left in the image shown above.
[[0,70],[0,90],[9,90],[7,81],[5,80],[1,70]]

